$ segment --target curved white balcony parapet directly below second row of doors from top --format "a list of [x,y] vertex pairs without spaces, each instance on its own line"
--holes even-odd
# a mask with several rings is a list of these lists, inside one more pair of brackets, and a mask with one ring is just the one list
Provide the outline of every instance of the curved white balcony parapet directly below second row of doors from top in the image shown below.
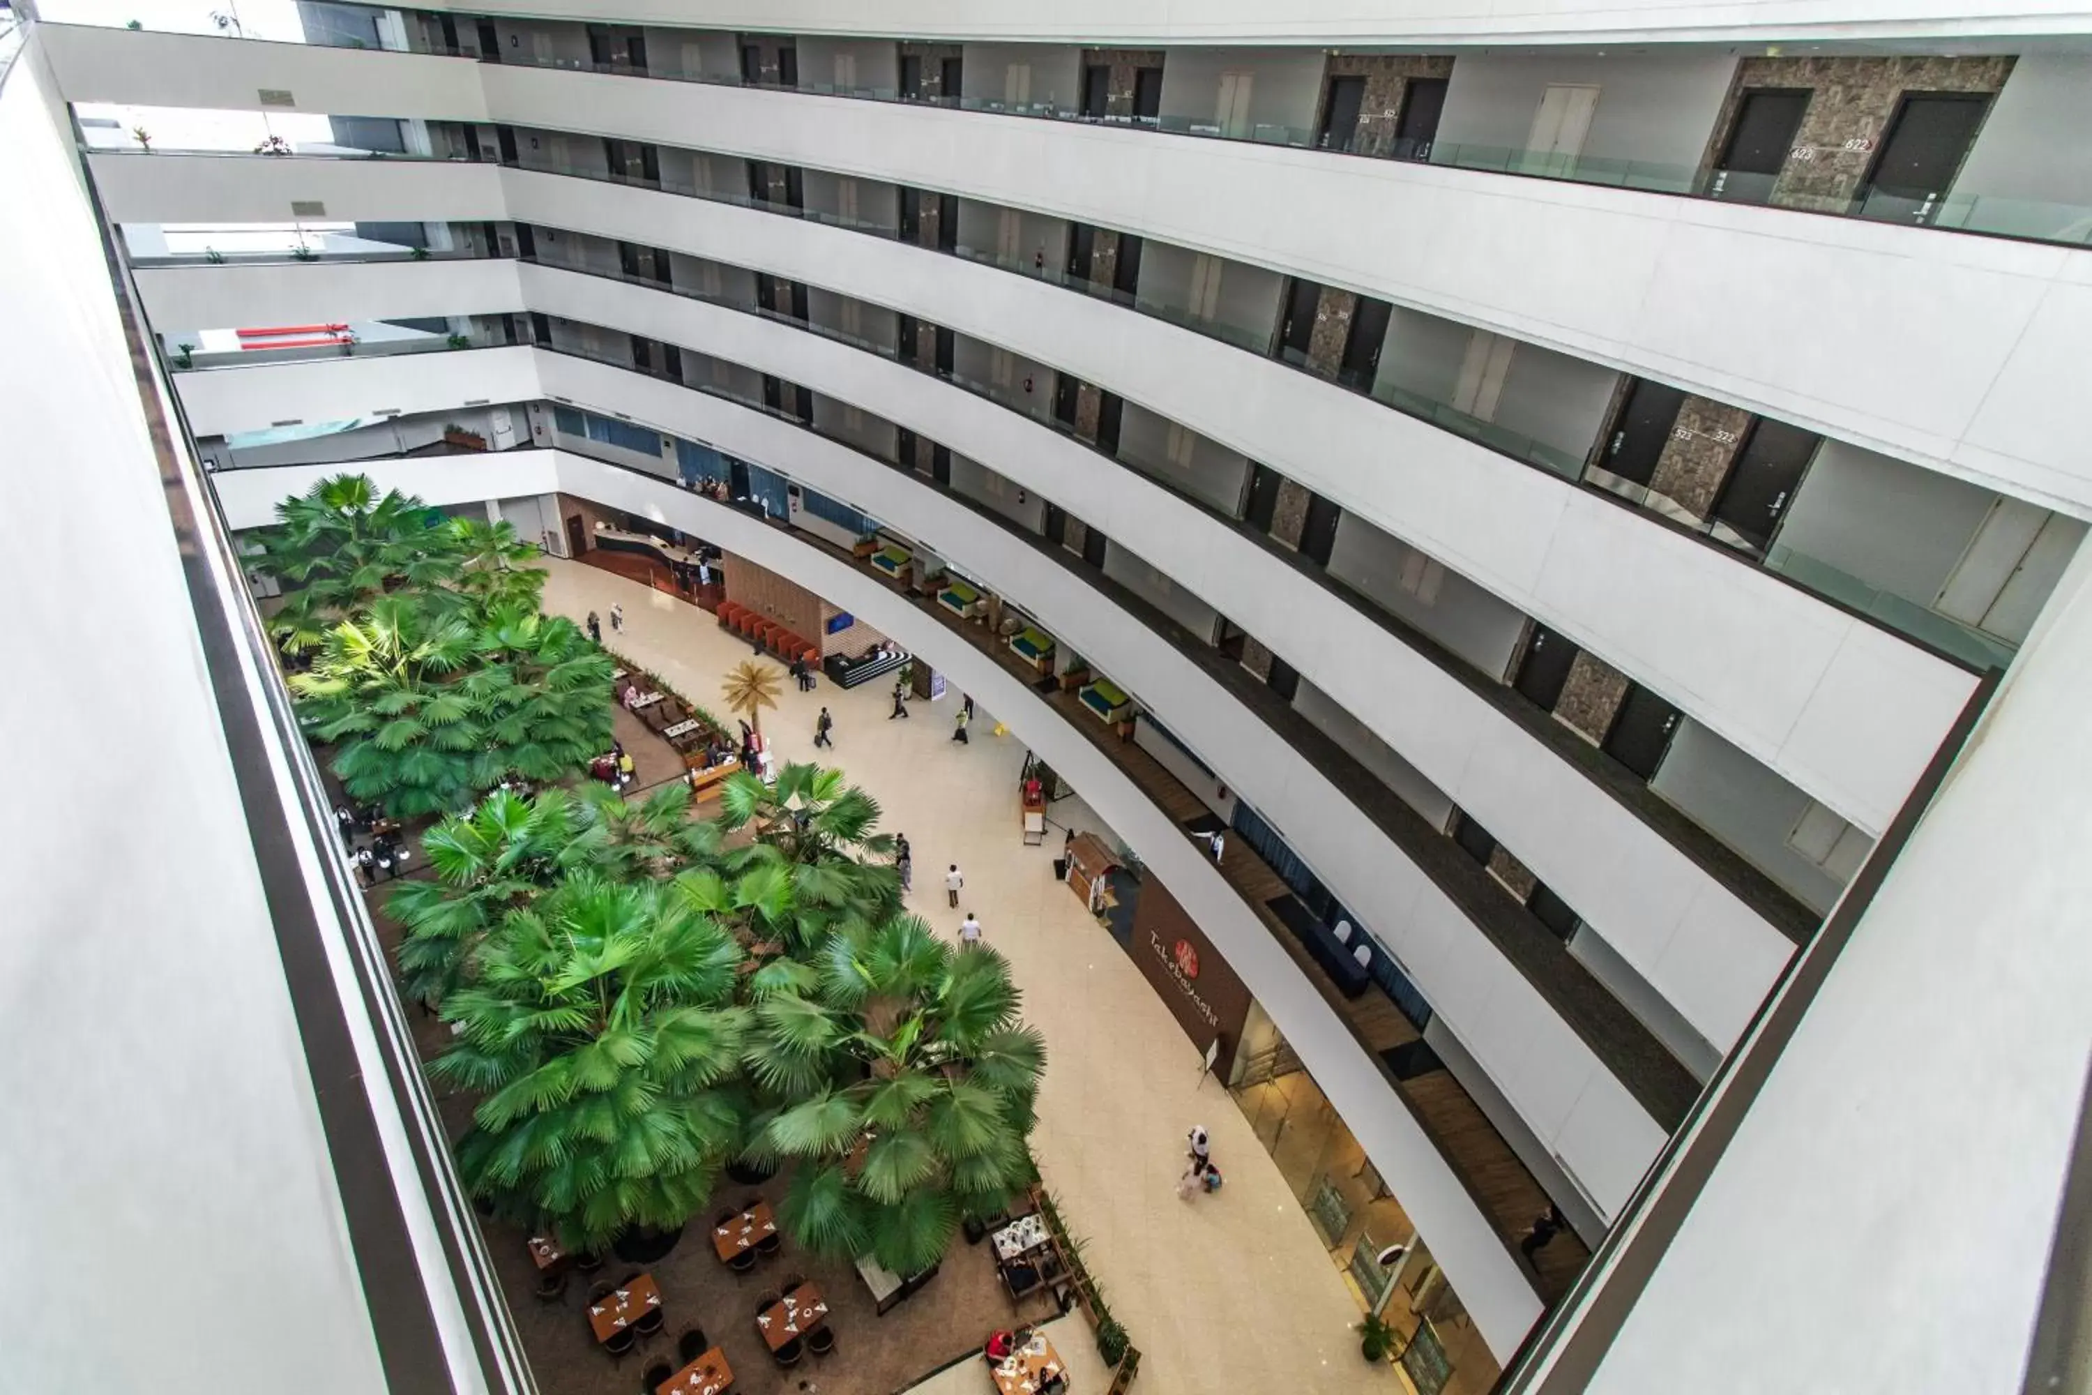
[[[96,157],[96,169],[103,159],[126,157]],[[199,161],[130,157],[111,178],[126,182],[142,165],[159,174],[184,163]],[[180,178],[155,180],[146,207],[182,205],[182,188]],[[1973,690],[1969,673],[1705,544],[1356,393],[1105,301],[715,203],[517,171],[506,171],[506,190],[498,207],[510,215],[628,228],[722,261],[877,297],[1065,364],[1195,425],[1456,567],[1868,828],[1885,826]],[[209,201],[186,207],[201,218]],[[1040,391],[1050,385],[1040,383]],[[1636,579],[1621,584],[1619,573]],[[1236,613],[1230,602],[1218,604]],[[1305,671],[1301,657],[1284,657]],[[1868,738],[1845,740],[1835,713],[1856,711],[1864,692],[1883,684],[1893,684],[1895,696],[1866,703]],[[1360,701],[1345,694],[1354,711],[1364,711]],[[1883,722],[1883,713],[1893,719]],[[1466,799],[1462,805],[1473,807]]]

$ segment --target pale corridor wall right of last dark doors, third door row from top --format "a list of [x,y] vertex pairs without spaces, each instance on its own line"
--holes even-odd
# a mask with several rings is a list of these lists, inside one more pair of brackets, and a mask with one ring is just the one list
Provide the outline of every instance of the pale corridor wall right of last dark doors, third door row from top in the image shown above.
[[1648,788],[1812,910],[1830,910],[1845,891],[1843,881],[1787,845],[1810,797],[1699,722],[1686,717],[1678,724]]

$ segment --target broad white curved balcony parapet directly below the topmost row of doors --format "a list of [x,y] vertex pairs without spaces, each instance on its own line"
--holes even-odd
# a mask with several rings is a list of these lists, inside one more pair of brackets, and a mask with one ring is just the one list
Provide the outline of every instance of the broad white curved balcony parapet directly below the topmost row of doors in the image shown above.
[[[395,84],[391,65],[441,63],[414,54],[255,44],[241,50],[236,79],[220,84],[224,40],[117,29],[52,38],[75,100],[218,107],[257,86],[303,84],[433,117],[460,100],[429,88],[469,90],[473,73],[483,96],[462,105],[483,100],[504,119],[584,109],[592,125],[634,140],[674,144],[705,132],[732,155],[1123,228],[2092,512],[2092,464],[2069,445],[2075,420],[2063,408],[2067,366],[2092,343],[2086,251],[920,102],[498,65],[441,69],[446,84],[402,67]],[[205,77],[167,75],[184,65]],[[1502,255],[1506,247],[1517,255]],[[1814,333],[1793,335],[1803,322]]]

